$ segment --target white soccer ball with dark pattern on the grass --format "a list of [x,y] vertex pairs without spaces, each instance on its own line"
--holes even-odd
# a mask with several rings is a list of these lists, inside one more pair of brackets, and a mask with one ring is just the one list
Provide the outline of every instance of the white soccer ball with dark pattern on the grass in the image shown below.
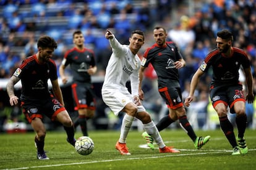
[[88,136],[81,136],[75,142],[75,150],[77,150],[80,155],[89,155],[93,152],[93,148],[93,140]]

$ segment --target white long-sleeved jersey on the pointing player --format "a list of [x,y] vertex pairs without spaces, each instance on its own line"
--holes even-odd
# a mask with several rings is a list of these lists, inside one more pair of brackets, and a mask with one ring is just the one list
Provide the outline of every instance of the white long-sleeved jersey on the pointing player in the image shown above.
[[139,69],[140,58],[136,54],[132,54],[129,46],[120,44],[116,38],[109,39],[112,47],[112,55],[106,67],[105,81],[103,89],[119,89],[126,88],[126,82],[129,81],[132,87],[132,94],[138,95],[139,91]]

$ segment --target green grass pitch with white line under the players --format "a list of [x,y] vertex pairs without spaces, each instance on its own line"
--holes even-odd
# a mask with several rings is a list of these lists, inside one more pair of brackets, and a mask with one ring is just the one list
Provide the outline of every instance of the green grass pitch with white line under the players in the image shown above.
[[[119,131],[90,131],[95,149],[90,155],[79,155],[66,142],[64,131],[48,131],[46,155],[50,160],[37,160],[35,134],[0,134],[0,169],[254,169],[256,166],[255,130],[247,129],[245,139],[249,153],[233,156],[231,145],[220,129],[196,131],[198,136],[210,135],[210,141],[200,150],[182,129],[161,131],[164,142],[181,153],[159,153],[145,148],[142,132],[130,131],[127,147],[132,155],[120,155],[114,148]],[[75,137],[82,136],[77,132]]]

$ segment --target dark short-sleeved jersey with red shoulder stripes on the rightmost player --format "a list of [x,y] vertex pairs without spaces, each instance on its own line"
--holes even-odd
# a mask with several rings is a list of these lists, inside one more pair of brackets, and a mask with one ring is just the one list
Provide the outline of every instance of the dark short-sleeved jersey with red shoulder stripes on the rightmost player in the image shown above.
[[231,85],[239,83],[239,68],[249,68],[250,60],[242,49],[233,47],[233,54],[226,57],[218,49],[211,51],[200,66],[200,70],[213,69],[211,85]]

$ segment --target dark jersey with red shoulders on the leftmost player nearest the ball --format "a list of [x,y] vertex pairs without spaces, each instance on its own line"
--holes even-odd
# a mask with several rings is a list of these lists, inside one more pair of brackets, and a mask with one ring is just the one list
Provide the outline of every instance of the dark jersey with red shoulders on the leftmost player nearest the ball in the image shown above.
[[21,79],[21,100],[40,100],[50,97],[48,79],[58,79],[56,64],[49,59],[44,64],[38,63],[36,55],[27,57],[14,73]]

